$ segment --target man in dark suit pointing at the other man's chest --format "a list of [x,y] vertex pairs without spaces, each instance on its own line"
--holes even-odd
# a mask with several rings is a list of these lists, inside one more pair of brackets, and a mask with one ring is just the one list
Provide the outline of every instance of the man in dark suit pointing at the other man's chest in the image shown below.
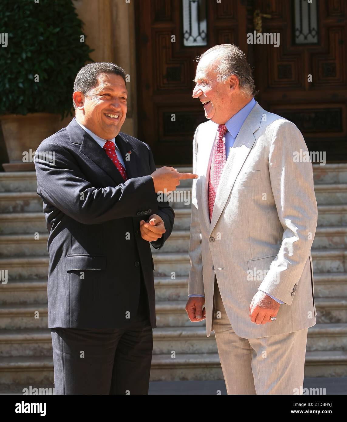
[[49,231],[55,393],[148,394],[156,327],[149,242],[160,249],[174,225],[157,192],[195,175],[155,170],[149,146],[120,132],[127,89],[119,66],[84,66],[73,104],[76,117],[35,155]]

